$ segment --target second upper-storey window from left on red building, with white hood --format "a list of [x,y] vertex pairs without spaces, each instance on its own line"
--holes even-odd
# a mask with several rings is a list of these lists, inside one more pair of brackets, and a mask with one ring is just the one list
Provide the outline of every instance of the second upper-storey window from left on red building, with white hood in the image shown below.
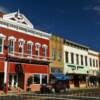
[[15,41],[16,41],[16,38],[13,37],[13,36],[10,36],[8,38],[8,45],[9,45],[9,48],[8,48],[8,53],[9,54],[14,54],[14,48],[15,48]]

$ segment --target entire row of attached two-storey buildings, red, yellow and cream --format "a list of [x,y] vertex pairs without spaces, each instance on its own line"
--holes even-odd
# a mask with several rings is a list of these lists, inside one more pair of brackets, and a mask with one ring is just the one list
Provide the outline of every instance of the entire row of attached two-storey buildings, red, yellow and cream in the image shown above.
[[[0,13],[0,90],[6,85],[10,90],[31,87],[39,91],[41,84],[49,82],[50,74],[70,76],[70,88],[97,85],[100,54],[35,29],[19,11]],[[30,76],[32,84],[28,86]]]

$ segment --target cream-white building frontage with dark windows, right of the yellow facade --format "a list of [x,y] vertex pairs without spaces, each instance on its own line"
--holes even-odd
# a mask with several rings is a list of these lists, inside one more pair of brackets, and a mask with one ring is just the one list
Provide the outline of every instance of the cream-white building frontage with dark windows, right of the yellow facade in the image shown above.
[[[70,75],[70,88],[86,87],[90,76],[97,76],[99,53],[75,42],[64,41],[64,74]],[[92,63],[92,65],[91,65]]]

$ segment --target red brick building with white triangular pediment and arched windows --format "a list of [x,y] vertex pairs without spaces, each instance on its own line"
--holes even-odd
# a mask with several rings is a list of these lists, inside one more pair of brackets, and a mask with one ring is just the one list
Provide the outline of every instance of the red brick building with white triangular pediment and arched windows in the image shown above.
[[[34,29],[19,11],[0,13],[0,88],[8,82],[12,88],[27,89],[29,76],[32,90],[39,90],[49,78],[49,37]],[[7,78],[8,77],[8,78]]]

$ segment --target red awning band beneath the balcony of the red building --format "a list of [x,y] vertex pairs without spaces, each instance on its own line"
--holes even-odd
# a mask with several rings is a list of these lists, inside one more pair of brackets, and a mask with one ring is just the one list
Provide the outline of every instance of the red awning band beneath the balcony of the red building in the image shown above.
[[[8,63],[8,73],[16,73],[16,63]],[[49,67],[47,65],[35,65],[35,64],[21,64],[23,73],[49,73]],[[0,62],[0,72],[4,72],[4,62]]]

